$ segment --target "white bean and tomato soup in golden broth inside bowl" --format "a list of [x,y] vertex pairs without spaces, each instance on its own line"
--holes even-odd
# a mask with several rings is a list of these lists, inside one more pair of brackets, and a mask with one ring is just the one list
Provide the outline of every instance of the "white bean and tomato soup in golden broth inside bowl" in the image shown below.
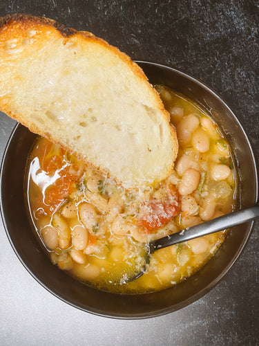
[[175,170],[161,183],[127,191],[58,145],[37,138],[27,168],[28,210],[53,264],[86,284],[145,293],[178,284],[203,266],[226,231],[156,251],[142,277],[147,244],[233,210],[231,149],[197,104],[171,89],[157,91],[178,132]]

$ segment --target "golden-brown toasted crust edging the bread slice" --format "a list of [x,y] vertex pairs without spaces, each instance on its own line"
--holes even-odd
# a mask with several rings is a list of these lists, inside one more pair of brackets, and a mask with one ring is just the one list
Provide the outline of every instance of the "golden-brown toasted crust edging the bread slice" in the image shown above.
[[[113,52],[115,55],[119,56],[119,58],[128,66],[128,69],[133,71],[134,75],[137,76],[138,80],[140,80],[142,83],[146,85],[146,89],[150,90],[150,93],[152,94],[152,100],[153,104],[155,104],[155,107],[160,111],[160,114],[163,118],[163,121],[168,123],[168,126],[170,128],[171,132],[171,143],[173,145],[173,154],[171,155],[171,164],[169,167],[167,167],[166,172],[164,172],[162,178],[165,179],[166,176],[169,176],[171,172],[173,171],[173,163],[175,161],[175,158],[178,154],[178,139],[176,136],[176,131],[173,126],[169,125],[170,116],[169,113],[164,109],[164,104],[160,100],[160,96],[158,95],[157,91],[151,86],[151,84],[148,83],[148,79],[146,78],[146,75],[140,69],[140,66],[135,64],[135,62],[131,61],[131,58],[128,57],[128,55],[122,53],[119,51],[118,48],[111,46],[108,44],[104,39],[100,39],[98,37],[95,37],[92,33],[88,33],[87,31],[77,31],[73,28],[67,28],[63,24],[59,24],[56,21],[52,19],[47,19],[45,17],[34,17],[31,15],[8,15],[6,17],[0,18],[0,47],[1,43],[4,44],[5,42],[8,42],[8,39],[11,39],[12,37],[16,36],[22,36],[24,33],[28,32],[28,30],[41,30],[44,32],[48,31],[48,28],[51,30],[54,28],[55,32],[52,33],[52,35],[55,35],[57,37],[64,37],[64,44],[68,42],[71,37],[77,39],[77,42],[79,44],[85,45],[87,42],[94,42],[97,44],[100,48],[108,49],[109,51]],[[9,33],[12,34],[10,37],[6,35],[5,31],[6,29],[9,29]],[[1,62],[1,48],[0,48],[0,62]],[[39,126],[35,125],[33,122],[28,122],[28,120],[25,120],[22,113],[19,112],[19,110],[14,111],[13,109],[10,109],[10,100],[8,100],[8,95],[5,97],[1,97],[0,95],[0,109],[1,111],[5,112],[10,116],[11,118],[14,118],[15,120],[18,120],[23,125],[28,127],[30,131],[35,132],[39,134],[40,136],[44,136],[51,140],[53,143],[57,143],[64,147],[64,149],[73,152],[77,155],[77,157],[81,158],[81,160],[85,161],[93,167],[94,169],[98,170],[102,174],[105,175],[112,175],[112,172],[110,172],[106,167],[100,167],[98,165],[93,164],[93,162],[88,161],[86,155],[82,154],[81,152],[75,151],[70,145],[66,145],[64,141],[60,140],[59,138],[53,136],[47,131],[43,131]],[[121,179],[117,178],[116,176],[113,176],[115,180],[118,183],[125,183],[122,182]],[[155,181],[155,180],[154,180]]]

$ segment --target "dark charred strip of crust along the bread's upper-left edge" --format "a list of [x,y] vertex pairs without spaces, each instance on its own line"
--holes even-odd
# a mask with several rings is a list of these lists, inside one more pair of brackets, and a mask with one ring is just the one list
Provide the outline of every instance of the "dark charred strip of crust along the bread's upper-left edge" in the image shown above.
[[20,13],[17,13],[15,15],[7,15],[5,17],[0,17],[0,28],[2,26],[7,25],[11,21],[17,21],[17,22],[30,21],[30,22],[35,23],[35,24],[46,24],[49,26],[53,26],[54,28],[59,30],[59,33],[61,33],[61,35],[63,35],[64,37],[68,37],[70,35],[77,33],[77,30],[75,30],[73,28],[68,28],[64,24],[57,23],[57,21],[55,21],[55,20],[48,19],[45,17],[35,17],[32,15],[24,15],[24,14],[20,14]]

